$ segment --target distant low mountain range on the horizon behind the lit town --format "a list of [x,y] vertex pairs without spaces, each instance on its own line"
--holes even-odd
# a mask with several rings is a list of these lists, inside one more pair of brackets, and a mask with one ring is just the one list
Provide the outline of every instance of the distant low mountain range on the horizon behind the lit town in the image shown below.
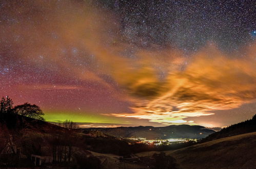
[[89,128],[83,129],[88,131],[101,131],[107,135],[115,137],[142,137],[146,139],[169,139],[169,138],[191,138],[201,139],[215,131],[206,129],[200,125],[169,125],[164,127],[153,126],[136,126],[136,127],[119,127],[119,128]]

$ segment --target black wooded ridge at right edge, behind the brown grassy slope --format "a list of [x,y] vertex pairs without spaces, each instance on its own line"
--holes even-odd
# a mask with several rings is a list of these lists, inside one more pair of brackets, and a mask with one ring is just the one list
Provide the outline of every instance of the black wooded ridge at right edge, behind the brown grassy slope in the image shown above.
[[246,120],[237,124],[233,124],[228,126],[227,128],[223,128],[219,132],[215,132],[210,134],[202,142],[211,141],[219,138],[235,136],[239,134],[245,134],[250,132],[256,132],[256,114],[250,120]]

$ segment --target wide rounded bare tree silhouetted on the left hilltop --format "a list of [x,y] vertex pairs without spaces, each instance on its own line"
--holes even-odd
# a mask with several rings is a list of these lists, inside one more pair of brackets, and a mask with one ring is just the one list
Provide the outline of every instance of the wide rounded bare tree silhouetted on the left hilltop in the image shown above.
[[38,120],[45,120],[43,118],[43,111],[35,104],[24,103],[22,105],[16,105],[13,108],[13,112],[18,115],[27,116]]

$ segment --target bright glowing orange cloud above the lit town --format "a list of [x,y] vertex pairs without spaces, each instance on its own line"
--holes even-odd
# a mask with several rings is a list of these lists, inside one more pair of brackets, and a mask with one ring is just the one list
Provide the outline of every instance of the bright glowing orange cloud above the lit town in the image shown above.
[[256,98],[256,61],[252,50],[255,45],[246,49],[245,58],[232,58],[208,46],[192,56],[184,71],[169,72],[156,87],[152,99],[132,108],[135,113],[113,115],[160,123],[186,123],[188,121],[181,119],[212,115],[209,111],[229,110],[252,102]]

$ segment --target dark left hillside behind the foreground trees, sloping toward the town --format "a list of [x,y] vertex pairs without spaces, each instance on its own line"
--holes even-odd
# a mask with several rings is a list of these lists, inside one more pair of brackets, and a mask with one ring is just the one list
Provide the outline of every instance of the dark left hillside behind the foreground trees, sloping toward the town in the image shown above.
[[[61,126],[21,115],[0,116],[0,140],[6,141],[11,137],[13,144],[21,147],[21,152],[27,158],[30,158],[31,154],[51,156],[56,145],[61,147],[67,143],[81,151],[98,153],[127,155],[137,151],[128,142],[100,131],[82,132],[81,129],[66,130]],[[4,146],[5,142],[0,141],[0,154],[1,147]]]

